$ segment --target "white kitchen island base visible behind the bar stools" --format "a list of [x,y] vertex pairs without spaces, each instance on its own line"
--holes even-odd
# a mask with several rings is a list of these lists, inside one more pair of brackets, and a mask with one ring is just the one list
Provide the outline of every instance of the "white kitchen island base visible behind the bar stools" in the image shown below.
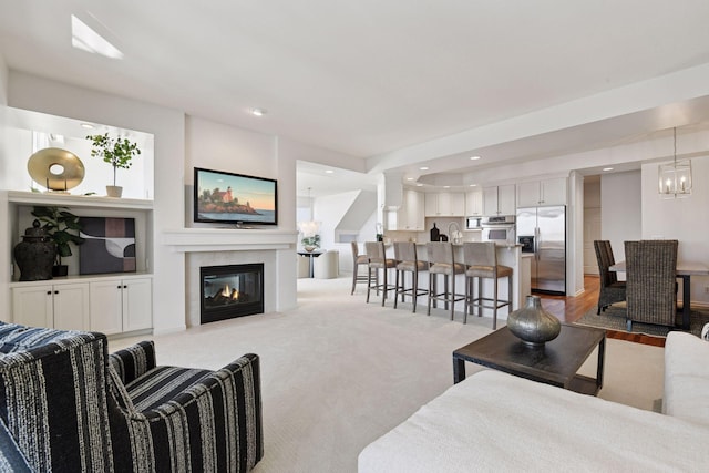
[[[525,257],[527,255],[522,253],[522,245],[506,245],[506,244],[497,244],[497,264],[510,266],[512,268],[512,310],[517,310],[520,307],[523,307],[524,300],[526,296],[530,295],[530,276],[531,269],[530,258]],[[389,247],[388,253],[390,251],[391,257],[393,257],[393,245]],[[417,254],[420,260],[428,261],[428,253],[425,248],[425,244],[417,244]],[[463,245],[462,244],[453,244],[453,257],[455,263],[463,263]],[[407,276],[409,276],[407,274]],[[442,279],[442,278],[441,278]],[[393,279],[391,279],[393,280]],[[405,280],[407,287],[411,286],[411,278],[407,277]],[[493,287],[494,281],[492,279],[483,280],[483,297],[492,298],[493,296]],[[477,286],[477,285],[475,285]],[[429,287],[429,271],[419,273],[419,287],[428,289]],[[507,300],[507,284],[505,279],[501,279],[499,284],[499,292],[497,297],[501,300]],[[464,294],[465,292],[465,275],[458,275],[455,277],[455,292]],[[425,301],[425,296],[422,296],[422,299],[419,300],[419,304]],[[463,301],[458,302],[455,307],[455,311],[460,312],[462,320],[463,313]],[[506,320],[508,311],[505,308],[501,308],[497,310],[497,319]],[[492,309],[483,309],[483,316],[492,318]]]

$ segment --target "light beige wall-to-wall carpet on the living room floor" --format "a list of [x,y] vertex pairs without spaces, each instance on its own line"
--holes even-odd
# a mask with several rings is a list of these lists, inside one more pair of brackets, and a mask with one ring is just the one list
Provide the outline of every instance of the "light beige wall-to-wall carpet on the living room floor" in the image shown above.
[[[265,454],[256,473],[356,472],[366,445],[453,384],[453,350],[491,332],[490,318],[463,325],[460,311],[451,321],[443,309],[427,317],[424,298],[417,313],[409,302],[366,304],[350,284],[299,279],[297,309],[152,337],[160,364],[218,369],[246,352],[261,357]],[[651,410],[662,395],[662,356],[608,340],[599,397]],[[596,359],[580,372],[595,376]],[[469,376],[480,369],[466,366]]]

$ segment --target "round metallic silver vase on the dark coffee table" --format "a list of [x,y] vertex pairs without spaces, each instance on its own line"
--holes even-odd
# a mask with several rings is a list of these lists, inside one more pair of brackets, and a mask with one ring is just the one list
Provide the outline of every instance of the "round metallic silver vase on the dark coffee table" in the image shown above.
[[562,323],[542,307],[538,296],[527,296],[526,306],[507,317],[507,327],[530,347],[543,347],[562,331]]

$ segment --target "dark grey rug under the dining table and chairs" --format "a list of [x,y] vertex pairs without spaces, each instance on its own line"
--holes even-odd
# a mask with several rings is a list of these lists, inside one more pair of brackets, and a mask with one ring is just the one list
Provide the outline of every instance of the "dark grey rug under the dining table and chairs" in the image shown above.
[[[584,313],[575,323],[582,326],[598,327],[606,330],[627,331],[626,327],[626,308],[624,306],[610,306],[600,315],[596,315],[596,308]],[[677,315],[677,325],[681,323],[681,313]],[[689,320],[690,331],[699,337],[701,328],[705,323],[709,323],[709,312],[701,310],[692,310]],[[651,323],[633,322],[633,333],[645,333],[651,337],[667,337],[671,330],[678,330],[671,327],[655,326]]]

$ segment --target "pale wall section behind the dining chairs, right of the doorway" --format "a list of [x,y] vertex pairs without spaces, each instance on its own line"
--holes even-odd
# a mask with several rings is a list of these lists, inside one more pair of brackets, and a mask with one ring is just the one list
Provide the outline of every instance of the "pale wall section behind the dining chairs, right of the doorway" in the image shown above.
[[624,241],[643,236],[640,172],[600,176],[600,233],[610,241],[616,261],[625,259]]

